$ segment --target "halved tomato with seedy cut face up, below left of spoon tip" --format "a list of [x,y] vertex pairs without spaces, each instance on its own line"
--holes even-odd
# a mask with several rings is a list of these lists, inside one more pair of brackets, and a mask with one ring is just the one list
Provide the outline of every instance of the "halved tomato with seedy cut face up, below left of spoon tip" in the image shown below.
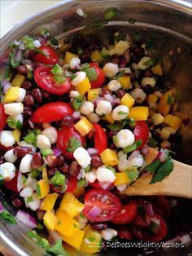
[[[108,200],[112,201],[113,204],[107,205],[107,203],[97,200],[97,196],[99,194],[103,196],[108,196]],[[116,214],[118,214],[121,210],[120,199],[117,196],[113,195],[111,192],[108,192],[103,189],[90,189],[89,192],[85,194],[84,201],[85,208],[83,210],[83,213],[92,223],[110,221],[111,219],[115,218]],[[92,217],[89,215],[89,210],[91,210],[93,206],[98,206],[98,208],[103,210],[111,210],[112,214],[107,216],[98,215],[97,217]]]

